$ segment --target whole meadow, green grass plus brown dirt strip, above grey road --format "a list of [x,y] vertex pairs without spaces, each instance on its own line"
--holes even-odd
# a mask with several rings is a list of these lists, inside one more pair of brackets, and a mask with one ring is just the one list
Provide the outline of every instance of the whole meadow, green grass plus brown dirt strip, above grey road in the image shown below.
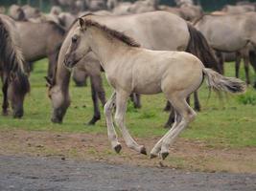
[[[35,63],[30,75],[32,90],[25,100],[25,115],[21,119],[0,117],[0,154],[60,156],[158,166],[159,160],[150,160],[128,150],[118,131],[124,150],[116,155],[107,141],[105,117],[94,126],[86,125],[93,115],[90,84],[78,88],[72,81],[72,103],[62,124],[51,122],[51,101],[47,96],[44,76],[47,60]],[[234,63],[225,63],[225,75],[234,76]],[[105,79],[105,74],[102,74]],[[250,69],[251,79],[255,79]],[[241,67],[244,79],[244,68]],[[106,96],[111,88],[104,80]],[[224,96],[219,99],[211,93],[204,82],[199,89],[201,112],[171,148],[171,156],[165,165],[171,168],[207,172],[255,173],[256,148],[256,91],[248,87],[244,95]],[[2,94],[0,94],[2,98]],[[193,100],[191,100],[193,103]],[[142,108],[134,109],[128,102],[126,123],[133,138],[146,144],[147,148],[168,130],[164,124],[169,114],[163,112],[165,97],[142,96]],[[118,130],[118,129],[117,129]],[[64,157],[63,157],[64,156]],[[162,163],[160,163],[162,166]]]

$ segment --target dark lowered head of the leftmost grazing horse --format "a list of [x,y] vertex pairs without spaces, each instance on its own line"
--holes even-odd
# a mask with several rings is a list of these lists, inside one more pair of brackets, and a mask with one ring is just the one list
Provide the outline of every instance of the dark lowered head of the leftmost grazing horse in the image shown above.
[[15,74],[12,76],[8,87],[8,98],[11,101],[13,117],[23,117],[23,102],[30,92],[30,83],[27,75]]

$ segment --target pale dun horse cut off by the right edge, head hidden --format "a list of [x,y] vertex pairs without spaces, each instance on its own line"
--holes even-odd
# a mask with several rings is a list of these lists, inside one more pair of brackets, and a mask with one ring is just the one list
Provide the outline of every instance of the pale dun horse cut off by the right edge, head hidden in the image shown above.
[[[244,54],[246,83],[249,84],[249,47],[256,46],[256,12],[204,15],[195,23],[216,51]],[[237,62],[238,63],[238,62]],[[238,68],[237,64],[237,68]],[[223,71],[223,67],[222,67]]]

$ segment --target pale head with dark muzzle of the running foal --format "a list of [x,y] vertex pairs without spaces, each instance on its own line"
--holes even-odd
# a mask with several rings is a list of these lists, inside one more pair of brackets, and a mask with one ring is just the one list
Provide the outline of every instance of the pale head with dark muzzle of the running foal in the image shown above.
[[86,32],[85,21],[79,18],[79,27],[71,35],[71,43],[65,53],[64,65],[67,68],[73,68],[90,51]]

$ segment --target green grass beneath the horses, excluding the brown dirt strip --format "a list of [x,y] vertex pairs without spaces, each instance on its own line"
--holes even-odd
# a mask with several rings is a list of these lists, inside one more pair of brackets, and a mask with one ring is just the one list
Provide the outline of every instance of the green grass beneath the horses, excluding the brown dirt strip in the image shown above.
[[[25,116],[22,119],[0,117],[0,130],[23,129],[29,131],[106,133],[105,119],[95,126],[84,125],[92,117],[93,106],[90,86],[77,88],[71,83],[72,104],[67,111],[63,124],[53,124],[51,117],[51,102],[47,96],[47,88],[43,76],[46,75],[47,61],[41,60],[35,64],[31,74],[32,92],[25,101]],[[251,71],[251,78],[254,74]],[[234,76],[234,63],[225,64],[225,74]],[[244,70],[241,69],[244,79]],[[104,76],[104,74],[103,74]],[[105,83],[106,96],[111,89]],[[2,94],[0,95],[2,99]],[[244,96],[227,96],[219,100],[212,94],[207,101],[208,89],[205,83],[199,92],[202,112],[196,120],[181,134],[182,138],[203,140],[210,147],[256,146],[256,91],[249,87]],[[85,107],[84,107],[85,106]],[[163,112],[165,98],[162,94],[142,96],[142,109],[133,109],[128,103],[127,125],[134,137],[162,136],[166,133],[163,128],[168,114]],[[101,108],[102,109],[102,108]],[[103,112],[103,111],[102,111]]]

